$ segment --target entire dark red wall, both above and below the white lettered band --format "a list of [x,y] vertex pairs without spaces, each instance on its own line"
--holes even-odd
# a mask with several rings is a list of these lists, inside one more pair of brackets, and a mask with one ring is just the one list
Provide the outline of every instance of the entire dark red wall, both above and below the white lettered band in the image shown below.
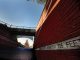
[[[80,36],[80,1],[61,0],[36,32],[35,48]],[[37,60],[80,60],[79,50],[37,50]]]

